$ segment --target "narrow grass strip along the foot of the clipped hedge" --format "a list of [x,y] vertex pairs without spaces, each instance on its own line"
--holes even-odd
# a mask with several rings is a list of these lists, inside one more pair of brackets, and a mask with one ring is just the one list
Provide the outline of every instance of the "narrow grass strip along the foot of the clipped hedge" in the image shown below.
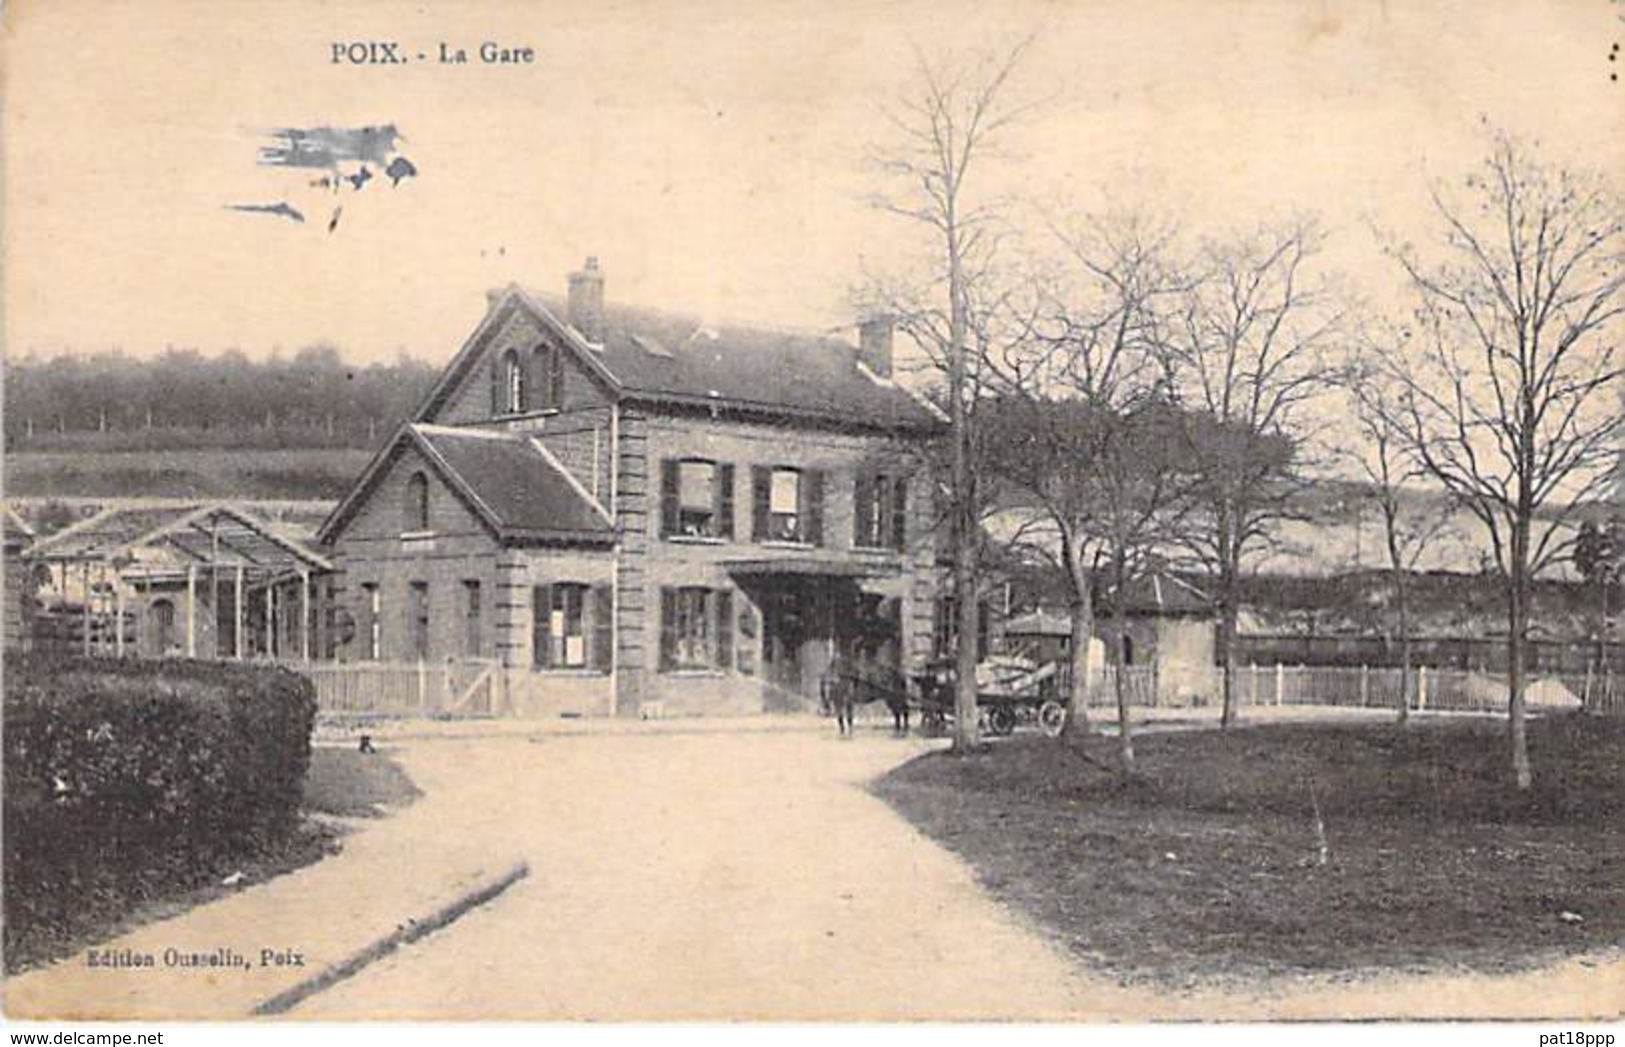
[[[307,815],[375,818],[418,797],[418,789],[385,753],[317,748],[306,775]],[[341,831],[322,819],[304,819],[281,839],[257,842],[247,854],[202,865],[161,870],[122,870],[117,880],[86,886],[50,920],[6,928],[5,969],[16,974],[128,933],[143,923],[167,920],[195,906],[320,862],[340,850]],[[242,873],[240,884],[221,881]]]

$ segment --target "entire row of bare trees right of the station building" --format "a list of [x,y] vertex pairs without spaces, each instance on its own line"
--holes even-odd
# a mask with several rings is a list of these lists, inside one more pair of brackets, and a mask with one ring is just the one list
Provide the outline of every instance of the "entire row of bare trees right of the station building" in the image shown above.
[[[1617,320],[1625,216],[1597,176],[1492,137],[1436,190],[1436,236],[1394,244],[1393,315],[1339,293],[1313,221],[1186,237],[1142,215],[1048,223],[1022,242],[970,193],[1022,117],[1006,101],[1025,44],[962,67],[921,62],[881,156],[879,205],[925,228],[939,265],[864,291],[946,376],[956,589],[975,592],[982,515],[1016,493],[1017,543],[1053,559],[1072,603],[1068,736],[1084,707],[1094,598],[1146,564],[1199,569],[1219,610],[1224,725],[1237,715],[1242,585],[1331,457],[1381,509],[1398,611],[1451,507],[1474,514],[1506,587],[1510,754],[1519,789],[1531,580],[1573,556],[1575,512],[1606,493],[1622,410]],[[973,203],[980,200],[980,203]],[[1401,491],[1450,494],[1432,515]],[[1121,610],[1123,602],[1115,602]],[[973,613],[973,600],[959,606]],[[1399,623],[1399,634],[1407,632]],[[959,631],[956,748],[977,745],[972,624]],[[1133,769],[1124,696],[1120,759]]]

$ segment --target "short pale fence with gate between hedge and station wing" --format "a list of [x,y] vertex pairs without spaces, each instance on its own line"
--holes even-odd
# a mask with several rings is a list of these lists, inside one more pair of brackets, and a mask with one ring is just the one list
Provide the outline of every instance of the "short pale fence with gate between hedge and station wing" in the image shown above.
[[323,715],[494,715],[494,662],[301,662]]

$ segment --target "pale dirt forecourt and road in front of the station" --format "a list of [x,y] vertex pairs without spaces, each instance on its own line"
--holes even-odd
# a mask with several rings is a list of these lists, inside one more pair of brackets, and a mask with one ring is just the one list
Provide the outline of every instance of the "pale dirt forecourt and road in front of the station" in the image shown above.
[[[1617,1014],[1625,998],[1617,959],[1497,977],[1124,985],[869,793],[941,745],[879,730],[382,743],[422,793],[408,806],[364,819],[335,858],[112,945],[286,945],[320,969],[523,860],[526,880],[288,1018],[1531,1019]],[[72,961],[8,984],[6,1008],[229,1018],[284,988],[275,971],[221,980]]]

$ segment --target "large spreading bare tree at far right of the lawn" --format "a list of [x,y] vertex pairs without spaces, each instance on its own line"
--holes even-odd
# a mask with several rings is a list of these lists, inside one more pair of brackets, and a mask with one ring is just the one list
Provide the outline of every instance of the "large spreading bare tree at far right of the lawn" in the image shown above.
[[1464,192],[1433,193],[1436,254],[1393,250],[1417,324],[1391,371],[1409,450],[1485,527],[1508,608],[1513,779],[1531,784],[1524,683],[1532,579],[1571,553],[1610,481],[1622,418],[1625,213],[1599,176],[1497,135]]

